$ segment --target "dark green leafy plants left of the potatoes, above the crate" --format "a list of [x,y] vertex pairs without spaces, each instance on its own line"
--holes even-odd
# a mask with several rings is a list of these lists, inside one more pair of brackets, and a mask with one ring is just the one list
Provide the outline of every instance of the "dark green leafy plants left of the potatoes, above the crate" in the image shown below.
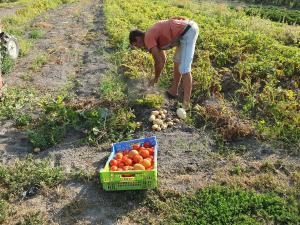
[[52,102],[41,104],[42,115],[29,132],[34,147],[46,149],[56,145],[70,131],[83,133],[85,140],[94,145],[102,141],[117,141],[129,138],[138,127],[133,121],[134,114],[124,103],[76,110],[76,105],[67,105],[66,100],[58,96]]

